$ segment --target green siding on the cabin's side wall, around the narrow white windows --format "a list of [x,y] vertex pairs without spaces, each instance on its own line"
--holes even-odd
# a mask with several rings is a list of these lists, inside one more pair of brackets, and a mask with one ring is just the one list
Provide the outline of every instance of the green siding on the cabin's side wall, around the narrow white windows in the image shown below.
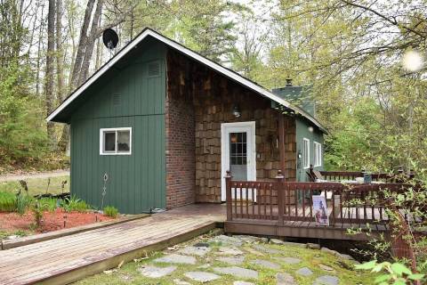
[[[322,170],[324,167],[324,156],[325,145],[323,133],[320,132],[317,127],[313,127],[313,132],[310,132],[309,127],[312,126],[308,123],[305,118],[296,118],[296,153],[301,151],[303,156],[303,139],[307,138],[310,140],[310,164],[314,166],[314,142],[319,142],[322,144],[322,166],[314,167],[315,169]],[[308,169],[303,168],[303,157],[301,159],[297,158],[297,167],[296,167],[296,177],[297,181],[305,182],[308,181],[306,175]]]

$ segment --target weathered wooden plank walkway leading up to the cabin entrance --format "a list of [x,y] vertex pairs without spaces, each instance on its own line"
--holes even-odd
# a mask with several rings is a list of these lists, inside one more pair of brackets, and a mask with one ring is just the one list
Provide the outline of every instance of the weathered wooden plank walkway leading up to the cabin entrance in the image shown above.
[[0,284],[67,284],[189,240],[225,220],[225,205],[195,204],[140,220],[0,251]]

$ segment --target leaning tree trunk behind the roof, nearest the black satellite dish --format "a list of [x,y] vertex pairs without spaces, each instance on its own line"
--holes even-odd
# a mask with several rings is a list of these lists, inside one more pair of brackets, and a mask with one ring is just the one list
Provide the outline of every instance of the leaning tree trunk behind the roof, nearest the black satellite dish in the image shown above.
[[86,40],[85,57],[82,61],[82,68],[80,69],[80,77],[78,79],[78,85],[85,83],[86,78],[89,75],[89,66],[93,55],[93,46],[95,44],[96,33],[101,20],[103,0],[98,0],[96,4],[95,14],[93,15],[92,27],[89,37]]

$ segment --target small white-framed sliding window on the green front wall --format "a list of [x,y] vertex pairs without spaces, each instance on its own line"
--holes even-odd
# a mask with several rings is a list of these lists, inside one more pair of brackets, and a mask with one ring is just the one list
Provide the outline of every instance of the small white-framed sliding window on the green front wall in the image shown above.
[[131,154],[132,127],[101,128],[100,154],[123,155]]

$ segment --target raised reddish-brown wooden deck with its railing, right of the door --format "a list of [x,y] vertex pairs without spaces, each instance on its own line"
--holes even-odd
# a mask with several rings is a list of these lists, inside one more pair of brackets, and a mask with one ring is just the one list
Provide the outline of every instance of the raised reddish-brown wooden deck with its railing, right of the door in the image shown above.
[[[399,193],[409,187],[405,183],[291,183],[281,175],[276,181],[232,181],[228,174],[224,229],[230,233],[334,240],[387,236],[391,229],[385,192]],[[316,216],[322,212],[315,213],[315,196],[325,199],[328,225],[316,223]],[[410,216],[403,208],[396,211],[411,224],[422,222],[422,217]],[[350,235],[349,229],[362,232]]]

